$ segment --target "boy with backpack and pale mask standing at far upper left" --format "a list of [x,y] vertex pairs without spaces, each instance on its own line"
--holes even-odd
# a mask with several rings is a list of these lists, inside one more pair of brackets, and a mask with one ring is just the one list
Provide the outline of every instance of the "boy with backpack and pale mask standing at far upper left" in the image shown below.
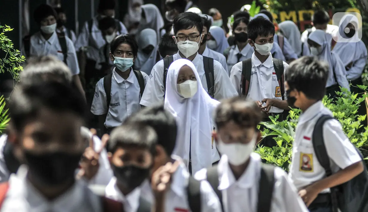
[[[26,57],[54,55],[64,61],[71,73],[74,85],[84,95],[79,79],[79,66],[73,42],[68,38],[59,37],[56,30],[57,14],[51,6],[41,4],[33,13],[35,22],[40,25],[40,31],[32,35],[22,46],[22,54]],[[64,49],[65,48],[65,49]]]

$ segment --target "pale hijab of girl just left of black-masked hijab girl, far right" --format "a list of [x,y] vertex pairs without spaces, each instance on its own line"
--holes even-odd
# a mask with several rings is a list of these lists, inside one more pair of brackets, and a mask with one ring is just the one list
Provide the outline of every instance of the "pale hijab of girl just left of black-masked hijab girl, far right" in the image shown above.
[[314,32],[309,34],[308,39],[322,46],[322,53],[318,56],[318,59],[327,62],[329,65],[330,73],[333,73],[333,60],[331,55],[332,35],[324,32],[321,29],[316,29]]

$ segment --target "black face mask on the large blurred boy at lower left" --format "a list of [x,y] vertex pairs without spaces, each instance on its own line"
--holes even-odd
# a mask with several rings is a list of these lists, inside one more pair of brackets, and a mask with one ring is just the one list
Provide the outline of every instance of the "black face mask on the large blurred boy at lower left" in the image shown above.
[[75,169],[78,168],[82,152],[78,154],[54,152],[36,155],[25,151],[24,156],[33,180],[39,184],[57,186],[74,181]]

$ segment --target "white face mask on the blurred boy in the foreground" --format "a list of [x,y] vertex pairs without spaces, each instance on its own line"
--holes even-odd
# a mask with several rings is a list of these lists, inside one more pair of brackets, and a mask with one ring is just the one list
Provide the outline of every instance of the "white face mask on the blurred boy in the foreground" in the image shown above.
[[238,166],[244,164],[254,151],[254,147],[256,144],[256,136],[248,143],[233,143],[233,144],[225,144],[221,140],[218,141],[217,148],[229,159],[229,163]]

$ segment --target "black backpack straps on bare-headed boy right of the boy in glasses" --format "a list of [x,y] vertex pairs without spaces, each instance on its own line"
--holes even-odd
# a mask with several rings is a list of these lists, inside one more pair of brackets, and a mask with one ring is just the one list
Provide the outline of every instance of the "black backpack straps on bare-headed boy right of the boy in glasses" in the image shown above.
[[[282,60],[272,58],[273,68],[275,69],[277,81],[279,82],[281,98],[284,100],[284,64]],[[249,91],[249,83],[252,74],[252,58],[243,61],[243,69],[241,71],[241,95],[247,96]]]

